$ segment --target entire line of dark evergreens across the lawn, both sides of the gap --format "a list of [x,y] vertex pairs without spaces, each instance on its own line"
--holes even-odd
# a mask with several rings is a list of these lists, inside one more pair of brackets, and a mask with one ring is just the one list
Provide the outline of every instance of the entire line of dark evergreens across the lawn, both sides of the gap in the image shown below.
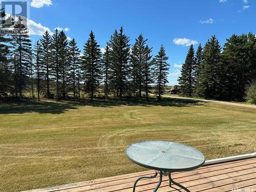
[[[8,28],[1,10],[1,28]],[[164,93],[169,71],[163,46],[152,56],[142,34],[134,45],[122,27],[111,35],[104,51],[94,33],[83,46],[69,42],[63,31],[48,31],[32,46],[21,17],[13,22],[10,35],[0,35],[0,98],[22,99],[25,92],[33,98],[67,99],[82,93],[93,99],[98,91],[105,99],[114,96],[145,97]],[[103,52],[103,53],[102,53]],[[237,100],[246,98],[246,89],[256,77],[255,34],[232,35],[223,49],[212,36],[195,53],[190,46],[182,65],[179,92],[186,96]],[[254,90],[254,89],[253,89]],[[254,91],[251,95],[254,95]]]

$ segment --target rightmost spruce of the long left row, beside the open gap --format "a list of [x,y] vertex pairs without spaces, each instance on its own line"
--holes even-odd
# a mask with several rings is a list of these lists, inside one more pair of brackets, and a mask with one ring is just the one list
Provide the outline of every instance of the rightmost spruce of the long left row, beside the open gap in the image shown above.
[[156,95],[158,99],[161,99],[161,96],[164,94],[164,87],[168,83],[168,70],[169,63],[167,63],[168,57],[165,54],[163,45],[160,47],[158,55],[155,56],[155,67],[154,67],[154,76],[156,82]]

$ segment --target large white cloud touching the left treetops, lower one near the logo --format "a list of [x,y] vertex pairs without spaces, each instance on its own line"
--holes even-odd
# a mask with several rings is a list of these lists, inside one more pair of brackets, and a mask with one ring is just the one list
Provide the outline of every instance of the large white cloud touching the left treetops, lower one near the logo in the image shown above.
[[[9,17],[9,16],[11,16],[11,15],[6,13],[6,17]],[[40,23],[36,23],[32,19],[28,19],[24,16],[21,16],[21,17],[23,20],[27,20],[27,26],[28,26],[30,35],[42,35],[46,31],[48,31],[50,34],[52,34],[51,30],[48,27],[42,26]],[[17,17],[15,17],[15,20],[16,19],[17,19]]]

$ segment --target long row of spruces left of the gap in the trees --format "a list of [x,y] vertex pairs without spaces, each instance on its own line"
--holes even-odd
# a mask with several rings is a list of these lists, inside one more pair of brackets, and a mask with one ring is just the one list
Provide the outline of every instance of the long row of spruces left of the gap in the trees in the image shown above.
[[42,96],[59,100],[68,98],[70,92],[73,98],[80,97],[83,91],[93,99],[102,87],[105,99],[110,94],[119,99],[148,98],[152,90],[160,99],[164,93],[168,57],[161,46],[153,58],[142,34],[131,46],[121,27],[111,35],[102,54],[91,31],[80,54],[75,39],[68,42],[63,31],[56,29],[52,35],[46,31],[32,48],[22,18],[13,25],[14,33],[0,36],[0,97],[22,99],[24,92],[31,91],[38,100]]

